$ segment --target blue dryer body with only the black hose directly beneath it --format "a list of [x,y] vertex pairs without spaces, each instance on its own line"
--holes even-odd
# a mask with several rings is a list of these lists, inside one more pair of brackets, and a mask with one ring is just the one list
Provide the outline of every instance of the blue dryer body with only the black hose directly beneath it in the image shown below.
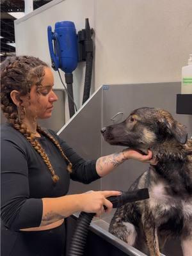
[[[65,72],[65,81],[69,94],[68,108],[70,117],[72,117],[75,113],[72,72],[76,69],[78,63],[76,27],[74,22],[71,21],[56,22],[54,33],[52,33],[51,26],[48,26],[47,33],[52,68],[54,70],[60,68]],[[54,48],[52,40],[54,41]]]

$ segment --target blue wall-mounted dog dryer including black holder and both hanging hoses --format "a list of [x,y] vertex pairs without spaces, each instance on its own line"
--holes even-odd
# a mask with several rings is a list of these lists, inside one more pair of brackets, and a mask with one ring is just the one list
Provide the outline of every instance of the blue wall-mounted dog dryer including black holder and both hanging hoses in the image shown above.
[[[78,35],[76,33],[74,22],[72,21],[56,22],[54,32],[52,32],[51,26],[48,26],[47,33],[52,68],[58,72],[60,68],[65,72],[68,108],[70,117],[72,117],[75,113],[74,106],[76,106],[72,88],[72,72],[76,69],[78,61],[86,61],[83,103],[90,95],[93,62],[93,30],[90,29],[88,19],[86,19],[86,28],[79,31]],[[54,42],[54,45],[52,44],[52,41]]]

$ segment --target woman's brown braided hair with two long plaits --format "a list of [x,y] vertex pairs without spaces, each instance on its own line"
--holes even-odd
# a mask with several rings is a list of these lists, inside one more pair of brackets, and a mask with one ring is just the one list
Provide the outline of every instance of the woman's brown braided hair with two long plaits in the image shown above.
[[[53,182],[56,183],[59,180],[59,177],[54,172],[44,148],[42,148],[38,140],[36,140],[35,135],[22,123],[25,109],[20,105],[21,111],[19,113],[19,109],[17,109],[17,106],[13,103],[13,100],[10,97],[10,93],[13,90],[17,90],[20,93],[19,96],[28,95],[30,100],[29,93],[31,91],[31,86],[33,84],[37,87],[41,86],[42,79],[45,76],[45,67],[48,67],[48,65],[44,61],[32,56],[13,56],[6,58],[6,60],[1,63],[1,109],[13,128],[19,131],[26,140],[31,143],[36,152],[40,154],[44,163],[47,165],[49,172],[51,172]],[[18,100],[22,103],[21,99]],[[49,138],[52,143],[56,145],[61,156],[67,161],[68,172],[72,172],[72,164],[67,156],[65,156],[58,141],[56,141],[51,134],[44,131],[39,125],[37,125],[37,131]]]

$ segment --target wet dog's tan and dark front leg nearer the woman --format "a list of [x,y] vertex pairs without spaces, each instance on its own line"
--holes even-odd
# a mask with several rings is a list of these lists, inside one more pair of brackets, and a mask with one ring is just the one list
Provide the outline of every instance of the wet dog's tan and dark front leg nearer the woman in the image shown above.
[[157,237],[157,228],[154,223],[152,214],[145,212],[142,216],[143,230],[145,232],[148,250],[150,256],[160,256],[159,241]]

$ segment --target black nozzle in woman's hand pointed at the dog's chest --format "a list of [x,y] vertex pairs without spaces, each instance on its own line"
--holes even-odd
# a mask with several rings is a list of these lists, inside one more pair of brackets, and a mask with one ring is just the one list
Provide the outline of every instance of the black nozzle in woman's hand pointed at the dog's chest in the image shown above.
[[107,199],[113,204],[113,208],[118,208],[124,204],[144,200],[149,198],[148,189],[142,188],[134,191],[122,191],[120,196],[109,196]]

